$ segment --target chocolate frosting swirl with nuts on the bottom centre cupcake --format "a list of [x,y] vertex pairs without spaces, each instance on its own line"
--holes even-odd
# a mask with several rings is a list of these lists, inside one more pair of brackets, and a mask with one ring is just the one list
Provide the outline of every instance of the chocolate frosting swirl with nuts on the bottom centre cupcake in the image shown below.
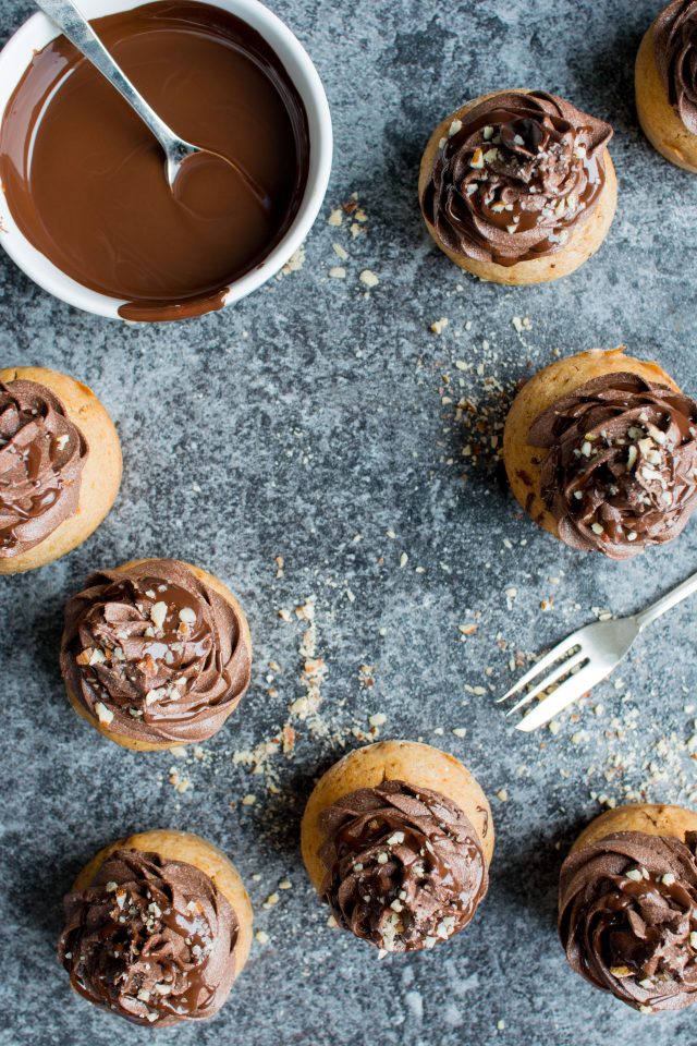
[[384,951],[448,940],[487,892],[477,832],[438,792],[384,781],[344,795],[319,827],[322,899],[340,926]]

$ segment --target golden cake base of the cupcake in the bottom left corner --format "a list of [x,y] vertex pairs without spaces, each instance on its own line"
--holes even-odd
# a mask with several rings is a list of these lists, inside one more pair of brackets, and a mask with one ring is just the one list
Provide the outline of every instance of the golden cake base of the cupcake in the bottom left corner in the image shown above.
[[235,978],[242,972],[252,948],[253,912],[249,897],[232,861],[225,854],[200,836],[173,828],[157,828],[152,831],[139,831],[125,839],[118,839],[100,850],[82,869],[73,890],[87,889],[107,861],[117,850],[139,850],[144,853],[158,853],[168,861],[181,861],[192,864],[213,881],[230,902],[237,916],[240,936],[235,953]]

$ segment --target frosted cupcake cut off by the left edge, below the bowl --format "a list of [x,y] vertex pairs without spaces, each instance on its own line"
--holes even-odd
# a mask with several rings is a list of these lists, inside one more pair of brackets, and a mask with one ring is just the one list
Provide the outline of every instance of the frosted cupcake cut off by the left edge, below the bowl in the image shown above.
[[120,484],[117,430],[86,385],[44,367],[0,370],[0,574],[82,545]]

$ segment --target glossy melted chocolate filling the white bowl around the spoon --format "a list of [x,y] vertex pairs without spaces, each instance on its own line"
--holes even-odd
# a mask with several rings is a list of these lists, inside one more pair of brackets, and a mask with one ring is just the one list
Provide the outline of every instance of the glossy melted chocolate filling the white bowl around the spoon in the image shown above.
[[32,60],[0,129],[12,215],[62,271],[125,300],[124,318],[220,308],[297,214],[309,159],[302,99],[265,40],[208,4],[149,3],[94,27],[178,134],[230,162],[194,157],[171,191],[150,132],[59,36]]

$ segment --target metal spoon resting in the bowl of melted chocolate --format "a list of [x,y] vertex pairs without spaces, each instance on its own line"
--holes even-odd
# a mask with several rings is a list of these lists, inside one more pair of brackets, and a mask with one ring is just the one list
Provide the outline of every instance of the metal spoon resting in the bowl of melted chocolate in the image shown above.
[[161,120],[155,109],[152,109],[143,95],[140,95],[123,70],[113,60],[107,48],[103,46],[87,19],[78,11],[72,0],[36,0],[38,8],[44,11],[49,19],[62,31],[63,35],[73,44],[85,58],[91,62],[102,76],[112,84],[117,90],[125,98],[131,108],[140,117],[140,120],[150,129],[157,141],[164,150],[166,165],[164,170],[170,188],[174,187],[176,175],[182,169],[182,165],[191,156],[207,154],[223,160],[244,180],[249,190],[254,193],[258,203],[267,209],[269,198],[267,193],[256,184],[246,171],[243,171],[237,163],[234,163],[228,157],[219,156],[210,149],[200,148],[198,145],[192,145],[180,138],[163,120]]

